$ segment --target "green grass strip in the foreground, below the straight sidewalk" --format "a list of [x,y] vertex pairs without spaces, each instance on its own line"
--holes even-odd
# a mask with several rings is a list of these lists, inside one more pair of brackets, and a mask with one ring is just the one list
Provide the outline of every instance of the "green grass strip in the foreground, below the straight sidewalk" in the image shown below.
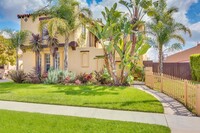
[[0,110],[0,133],[170,133],[164,126]]

